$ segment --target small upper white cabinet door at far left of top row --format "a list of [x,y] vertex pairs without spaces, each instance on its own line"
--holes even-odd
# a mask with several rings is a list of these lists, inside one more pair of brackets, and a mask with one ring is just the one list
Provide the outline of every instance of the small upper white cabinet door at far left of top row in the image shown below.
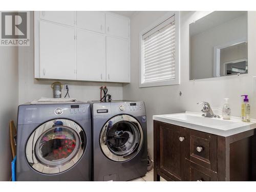
[[40,11],[40,18],[51,22],[74,26],[74,11]]

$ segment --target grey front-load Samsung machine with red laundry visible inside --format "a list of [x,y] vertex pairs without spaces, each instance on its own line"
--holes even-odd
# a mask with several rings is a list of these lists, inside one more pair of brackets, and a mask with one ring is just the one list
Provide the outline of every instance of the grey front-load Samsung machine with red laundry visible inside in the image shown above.
[[91,181],[89,103],[18,107],[17,181]]

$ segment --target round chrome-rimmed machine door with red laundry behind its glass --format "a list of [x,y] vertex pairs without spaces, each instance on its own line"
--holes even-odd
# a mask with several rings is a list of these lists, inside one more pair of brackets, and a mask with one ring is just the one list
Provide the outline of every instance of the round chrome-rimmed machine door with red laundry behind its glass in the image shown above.
[[38,172],[57,174],[74,166],[85,148],[86,136],[77,123],[54,119],[31,134],[26,144],[26,157]]

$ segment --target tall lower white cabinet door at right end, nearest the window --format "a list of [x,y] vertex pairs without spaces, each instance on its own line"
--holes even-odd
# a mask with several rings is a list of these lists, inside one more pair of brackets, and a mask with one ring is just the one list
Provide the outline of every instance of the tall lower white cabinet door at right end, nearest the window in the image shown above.
[[106,81],[130,82],[129,40],[106,37]]

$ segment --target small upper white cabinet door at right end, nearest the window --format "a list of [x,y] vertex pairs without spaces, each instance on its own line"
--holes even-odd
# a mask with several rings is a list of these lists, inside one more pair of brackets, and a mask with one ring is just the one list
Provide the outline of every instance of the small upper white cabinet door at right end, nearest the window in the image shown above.
[[129,19],[106,14],[106,34],[116,37],[129,38]]

